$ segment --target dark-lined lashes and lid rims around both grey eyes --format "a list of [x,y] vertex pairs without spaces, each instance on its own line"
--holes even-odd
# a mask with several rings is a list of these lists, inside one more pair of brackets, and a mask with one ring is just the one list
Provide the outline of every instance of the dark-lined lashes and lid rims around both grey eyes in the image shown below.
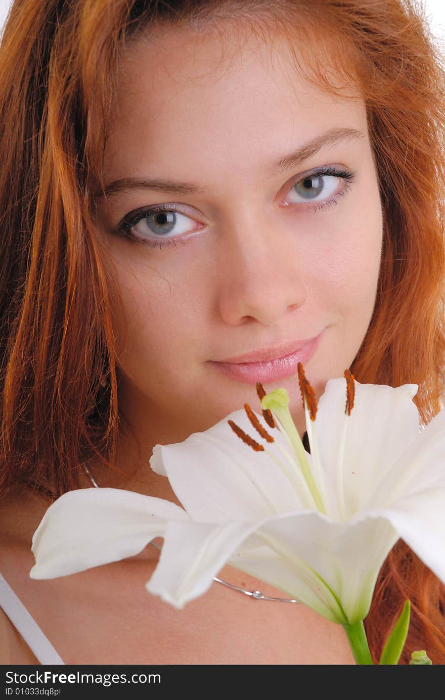
[[[317,211],[325,211],[328,209],[328,207],[331,207],[333,204],[337,204],[338,202],[338,197],[344,197],[348,191],[350,190],[350,182],[354,179],[355,174],[350,172],[350,170],[346,169],[337,169],[331,166],[327,167],[320,167],[318,169],[315,169],[313,172],[310,172],[308,174],[303,175],[303,177],[299,176],[298,179],[296,179],[293,183],[292,186],[290,187],[290,190],[301,180],[304,180],[306,178],[310,177],[320,177],[320,176],[334,176],[342,179],[345,181],[345,184],[343,186],[343,189],[340,190],[340,192],[336,193],[336,195],[332,195],[329,197],[327,200],[321,200],[320,202],[314,202],[314,204],[311,206],[310,204],[306,205],[306,211],[313,211],[314,214]],[[290,191],[289,190],[289,191]],[[288,206],[304,206],[302,202],[292,202],[292,204],[289,204]],[[165,212],[165,213],[170,213],[170,212],[176,212],[177,214],[183,214],[182,211],[179,211],[179,209],[176,209],[175,207],[165,207],[165,204],[156,204],[154,207],[149,207],[149,209],[144,209],[144,211],[138,211],[137,214],[129,218],[128,216],[125,216],[123,220],[121,221],[120,224],[118,224],[118,227],[116,229],[116,232],[123,234],[125,237],[130,239],[133,243],[142,243],[143,245],[151,246],[151,248],[162,248],[163,246],[167,245],[174,245],[177,246],[177,242],[179,241],[183,245],[185,245],[185,241],[182,238],[182,235],[179,234],[177,237],[173,238],[167,238],[163,240],[157,240],[157,239],[143,239],[143,238],[138,238],[137,236],[134,236],[130,233],[131,229],[133,226],[137,225],[139,221],[142,221],[142,219],[146,218],[150,214],[158,214],[159,212]],[[187,216],[186,214],[183,214],[183,216]]]

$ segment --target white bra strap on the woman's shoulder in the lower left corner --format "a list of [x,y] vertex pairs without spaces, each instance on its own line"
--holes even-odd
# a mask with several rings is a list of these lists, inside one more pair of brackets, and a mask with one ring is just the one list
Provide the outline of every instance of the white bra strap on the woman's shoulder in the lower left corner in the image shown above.
[[0,608],[3,608],[6,615],[17,629],[18,633],[25,640],[33,654],[45,666],[53,664],[64,664],[64,661],[57,654],[55,648],[41,631],[28,610],[23,605],[13,589],[0,573]]

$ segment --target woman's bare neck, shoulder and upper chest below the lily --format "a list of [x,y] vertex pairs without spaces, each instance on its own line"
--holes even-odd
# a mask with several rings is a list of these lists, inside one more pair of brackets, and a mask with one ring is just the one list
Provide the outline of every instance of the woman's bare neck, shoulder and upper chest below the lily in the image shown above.
[[[217,582],[183,610],[151,596],[145,584],[158,561],[153,547],[69,576],[32,580],[30,545],[41,514],[37,502],[0,502],[0,573],[65,664],[354,664],[341,626],[304,605],[252,602]],[[218,576],[282,597],[228,565]],[[1,664],[39,663],[1,610],[0,649]]]

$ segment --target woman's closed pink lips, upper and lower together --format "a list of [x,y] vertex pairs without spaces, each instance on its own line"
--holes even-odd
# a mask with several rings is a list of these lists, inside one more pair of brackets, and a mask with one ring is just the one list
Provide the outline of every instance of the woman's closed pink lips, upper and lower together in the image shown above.
[[306,365],[309,362],[317,350],[321,337],[322,333],[319,333],[310,340],[297,340],[280,348],[259,350],[256,353],[224,362],[212,362],[212,364],[231,379],[238,379],[245,384],[256,384],[257,381],[266,384],[296,374],[298,363]]

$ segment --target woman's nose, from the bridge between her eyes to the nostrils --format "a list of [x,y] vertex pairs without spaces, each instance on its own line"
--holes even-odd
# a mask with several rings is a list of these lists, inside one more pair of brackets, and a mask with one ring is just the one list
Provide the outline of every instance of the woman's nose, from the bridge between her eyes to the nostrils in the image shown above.
[[241,325],[253,319],[270,326],[299,309],[307,293],[292,232],[280,230],[276,221],[242,223],[239,216],[228,227],[217,272],[223,321]]

